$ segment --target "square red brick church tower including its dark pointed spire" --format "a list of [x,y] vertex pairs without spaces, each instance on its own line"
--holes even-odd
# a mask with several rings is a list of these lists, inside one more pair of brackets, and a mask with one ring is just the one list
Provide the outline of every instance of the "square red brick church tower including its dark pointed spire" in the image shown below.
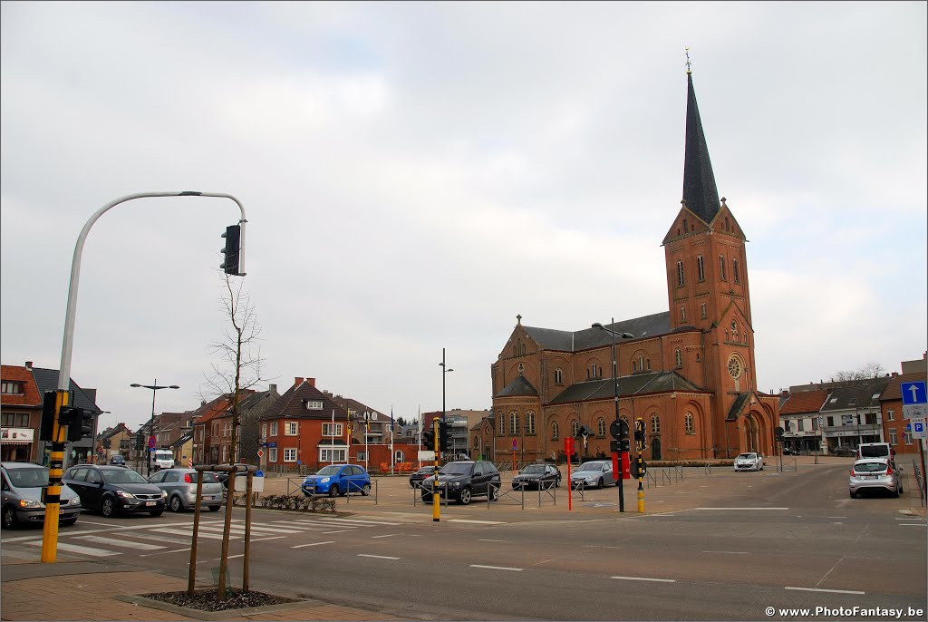
[[719,200],[687,65],[683,200],[663,242],[670,329],[702,332],[698,358],[705,388],[715,394],[715,416],[735,421],[757,384],[747,239],[725,198]]

